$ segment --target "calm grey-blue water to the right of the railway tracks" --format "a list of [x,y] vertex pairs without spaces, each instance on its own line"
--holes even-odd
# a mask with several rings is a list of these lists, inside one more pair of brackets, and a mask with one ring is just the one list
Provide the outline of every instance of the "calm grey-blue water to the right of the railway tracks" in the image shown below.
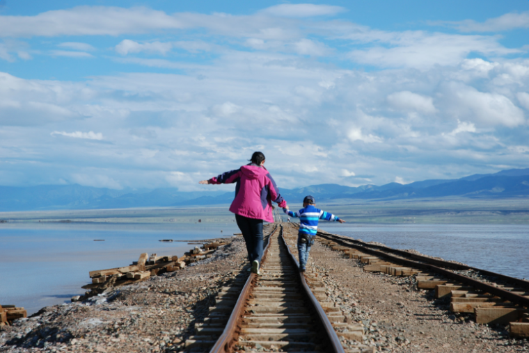
[[472,224],[320,223],[330,233],[416,249],[484,270],[529,279],[529,226]]

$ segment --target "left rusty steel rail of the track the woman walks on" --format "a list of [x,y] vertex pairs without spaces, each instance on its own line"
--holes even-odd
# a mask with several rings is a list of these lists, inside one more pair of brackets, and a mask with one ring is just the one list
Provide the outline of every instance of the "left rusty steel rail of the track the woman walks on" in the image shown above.
[[[270,232],[268,236],[267,246],[264,247],[264,250],[263,250],[262,260],[264,260],[268,254],[268,247],[270,245],[270,237],[274,233],[276,233],[276,231],[278,231],[279,227],[281,226],[276,225],[274,230]],[[248,296],[250,295],[252,282],[255,281],[256,278],[257,278],[257,274],[251,272],[250,276],[248,276],[248,279],[246,279],[246,284],[244,284],[244,287],[241,290],[241,294],[239,295],[237,302],[235,302],[235,306],[230,315],[230,318],[228,319],[228,323],[226,323],[226,327],[224,328],[224,331],[222,332],[221,336],[219,336],[219,339],[216,340],[216,343],[210,350],[210,353],[226,353],[230,350],[231,346],[235,343],[235,333],[238,328],[237,323],[239,322],[239,318],[241,318],[241,316],[244,314],[246,299],[248,299]]]

